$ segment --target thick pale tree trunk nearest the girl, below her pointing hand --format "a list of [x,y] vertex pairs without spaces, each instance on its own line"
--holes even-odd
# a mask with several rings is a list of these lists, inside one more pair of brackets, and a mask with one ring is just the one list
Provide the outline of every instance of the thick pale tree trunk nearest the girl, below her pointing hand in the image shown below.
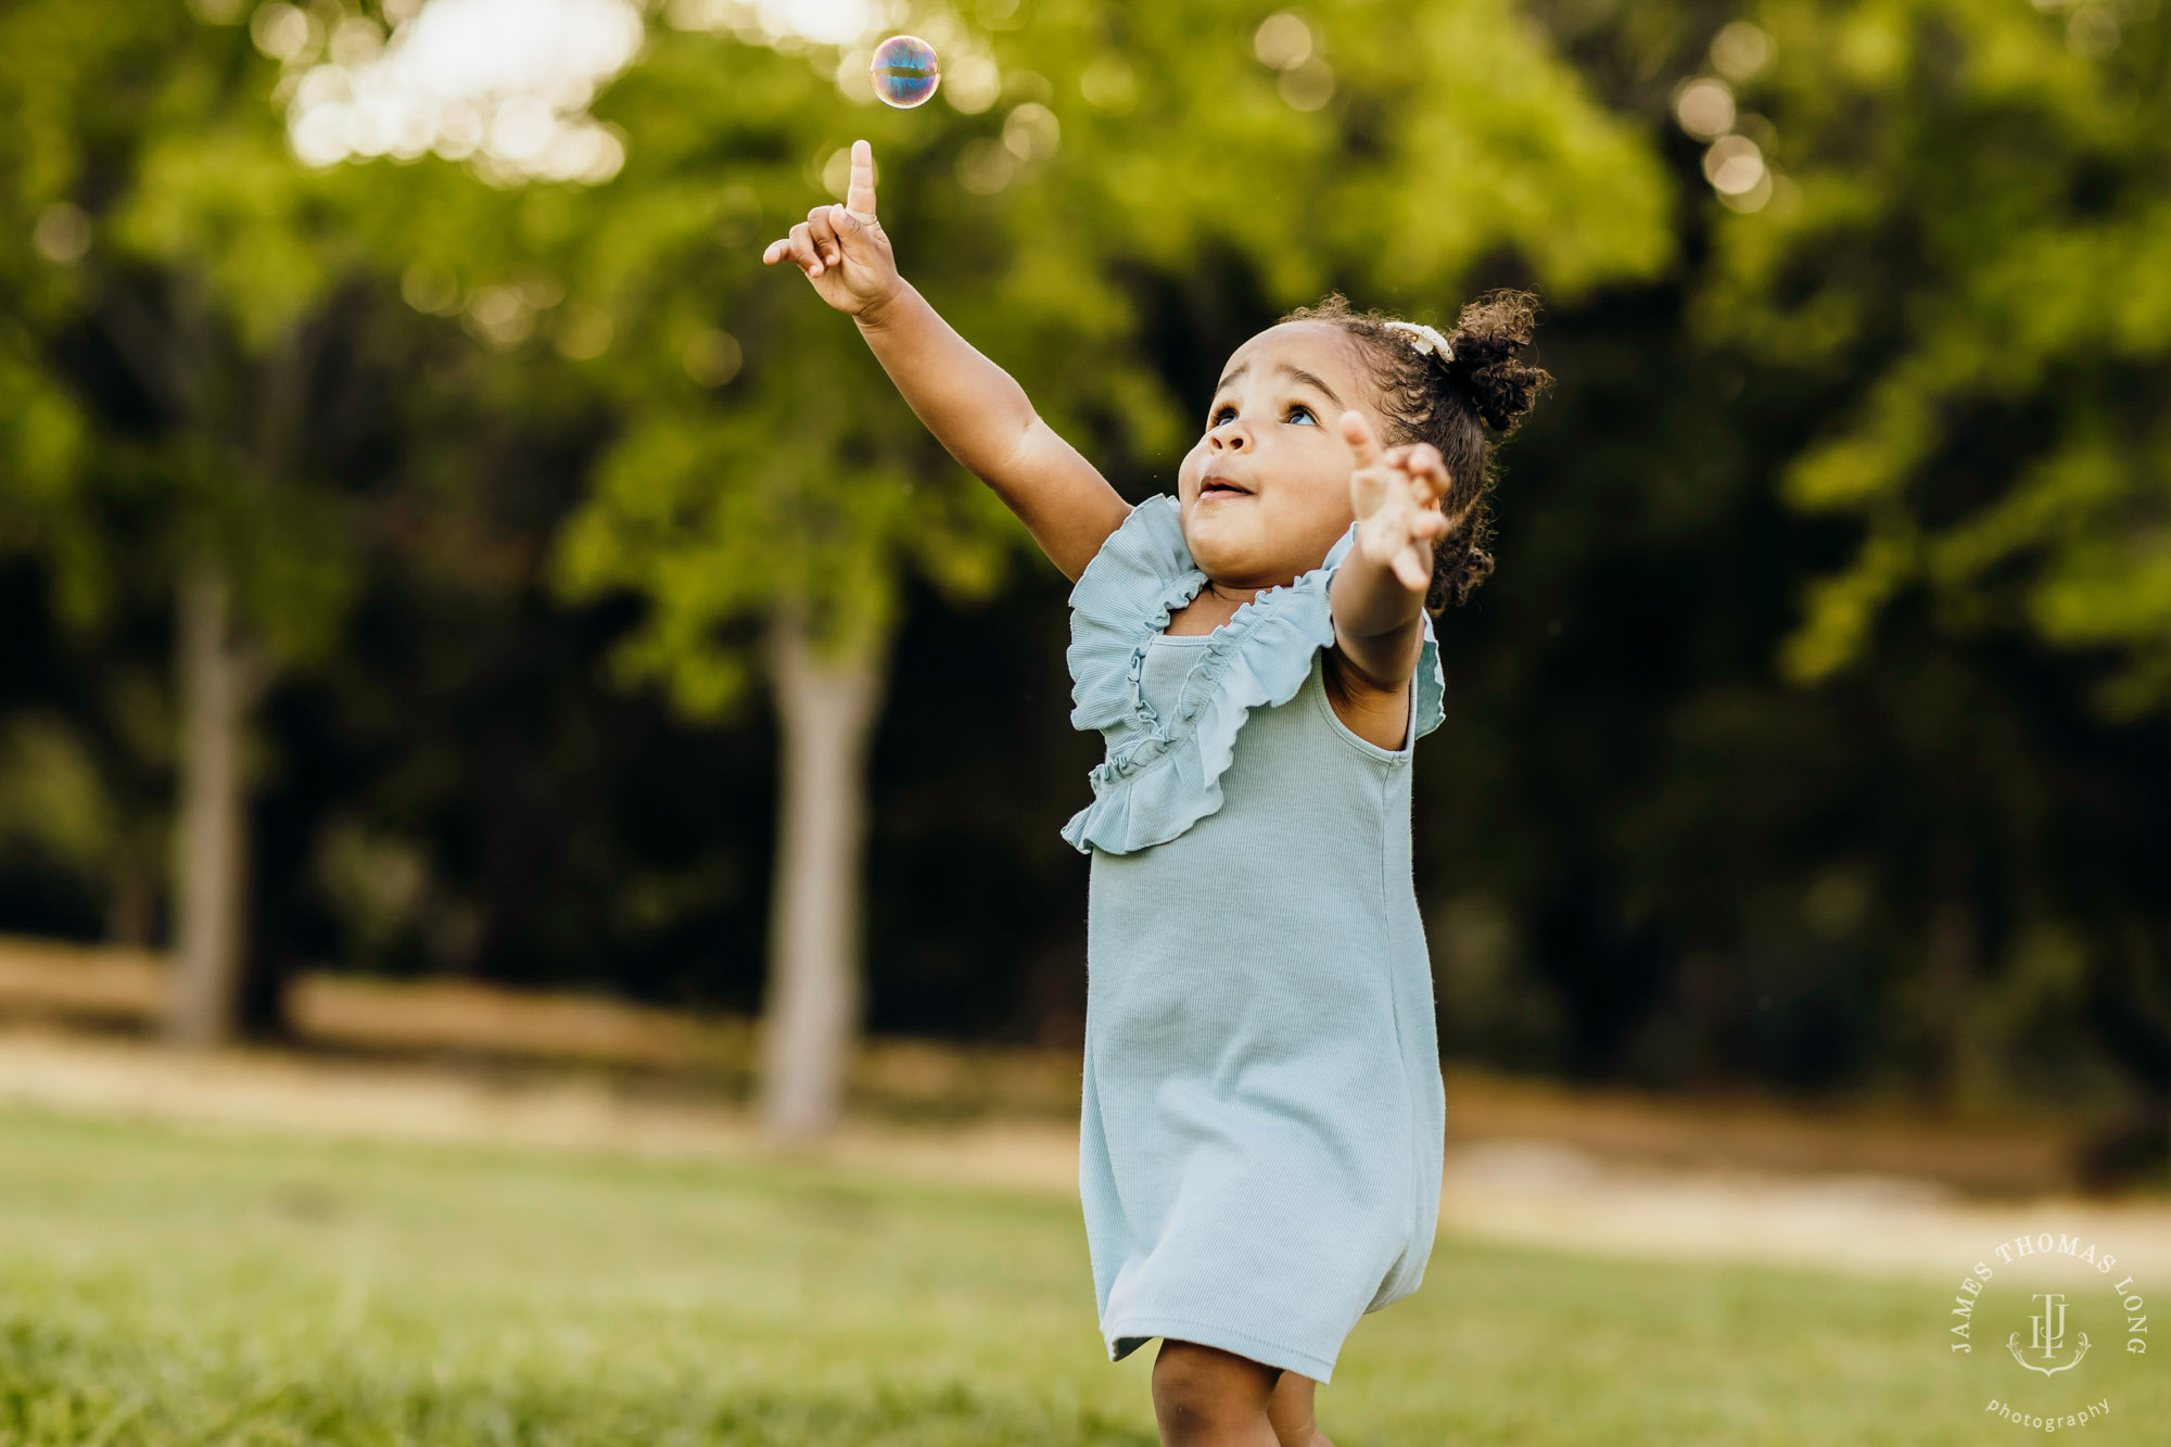
[[866,767],[881,702],[881,643],[814,654],[805,619],[771,615],[784,747],[762,1006],[762,1130],[805,1141],[836,1123],[860,1017]]

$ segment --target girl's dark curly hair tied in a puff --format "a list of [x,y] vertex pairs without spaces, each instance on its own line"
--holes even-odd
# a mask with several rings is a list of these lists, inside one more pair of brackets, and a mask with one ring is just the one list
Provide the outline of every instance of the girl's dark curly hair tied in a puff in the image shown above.
[[1442,511],[1455,521],[1433,541],[1433,580],[1424,589],[1424,611],[1439,617],[1448,604],[1461,606],[1470,589],[1494,569],[1494,556],[1485,550],[1491,541],[1485,495],[1494,487],[1487,430],[1494,437],[1513,432],[1537,395],[1552,385],[1552,374],[1524,361],[1537,326],[1537,298],[1528,291],[1489,291],[1463,306],[1448,335],[1455,350],[1448,365],[1411,348],[1409,332],[1387,326],[1398,317],[1353,311],[1340,291],[1281,319],[1331,322],[1346,330],[1372,363],[1381,413],[1389,426],[1387,445],[1429,441],[1439,448],[1452,478]]

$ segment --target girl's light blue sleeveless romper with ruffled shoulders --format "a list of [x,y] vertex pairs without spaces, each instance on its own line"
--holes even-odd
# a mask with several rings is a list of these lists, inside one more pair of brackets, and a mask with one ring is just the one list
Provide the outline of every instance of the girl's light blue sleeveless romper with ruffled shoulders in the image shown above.
[[1409,858],[1409,769],[1442,721],[1424,617],[1389,752],[1329,704],[1326,561],[1207,637],[1177,500],[1138,504],[1070,591],[1094,802],[1079,1195],[1101,1336],[1194,1341],[1326,1382],[1366,1312],[1418,1288],[1446,1099]]

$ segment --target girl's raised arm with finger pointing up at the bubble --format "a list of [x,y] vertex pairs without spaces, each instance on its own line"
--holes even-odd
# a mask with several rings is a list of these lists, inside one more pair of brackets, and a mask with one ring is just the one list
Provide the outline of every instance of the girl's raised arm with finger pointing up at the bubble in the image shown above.
[[936,441],[994,489],[1064,578],[1086,571],[1131,504],[1040,419],[1016,378],[897,274],[875,219],[875,152],[866,141],[851,146],[845,204],[810,211],[762,261],[795,263],[823,302],[849,313]]

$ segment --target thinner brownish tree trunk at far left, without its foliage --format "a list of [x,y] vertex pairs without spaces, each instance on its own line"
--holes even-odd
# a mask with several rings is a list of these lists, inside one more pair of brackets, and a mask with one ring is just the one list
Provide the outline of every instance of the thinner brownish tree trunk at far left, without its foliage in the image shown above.
[[241,980],[247,813],[241,726],[250,660],[232,637],[226,576],[191,567],[180,582],[182,765],[174,850],[176,947],[165,1036],[208,1049],[232,1034]]

